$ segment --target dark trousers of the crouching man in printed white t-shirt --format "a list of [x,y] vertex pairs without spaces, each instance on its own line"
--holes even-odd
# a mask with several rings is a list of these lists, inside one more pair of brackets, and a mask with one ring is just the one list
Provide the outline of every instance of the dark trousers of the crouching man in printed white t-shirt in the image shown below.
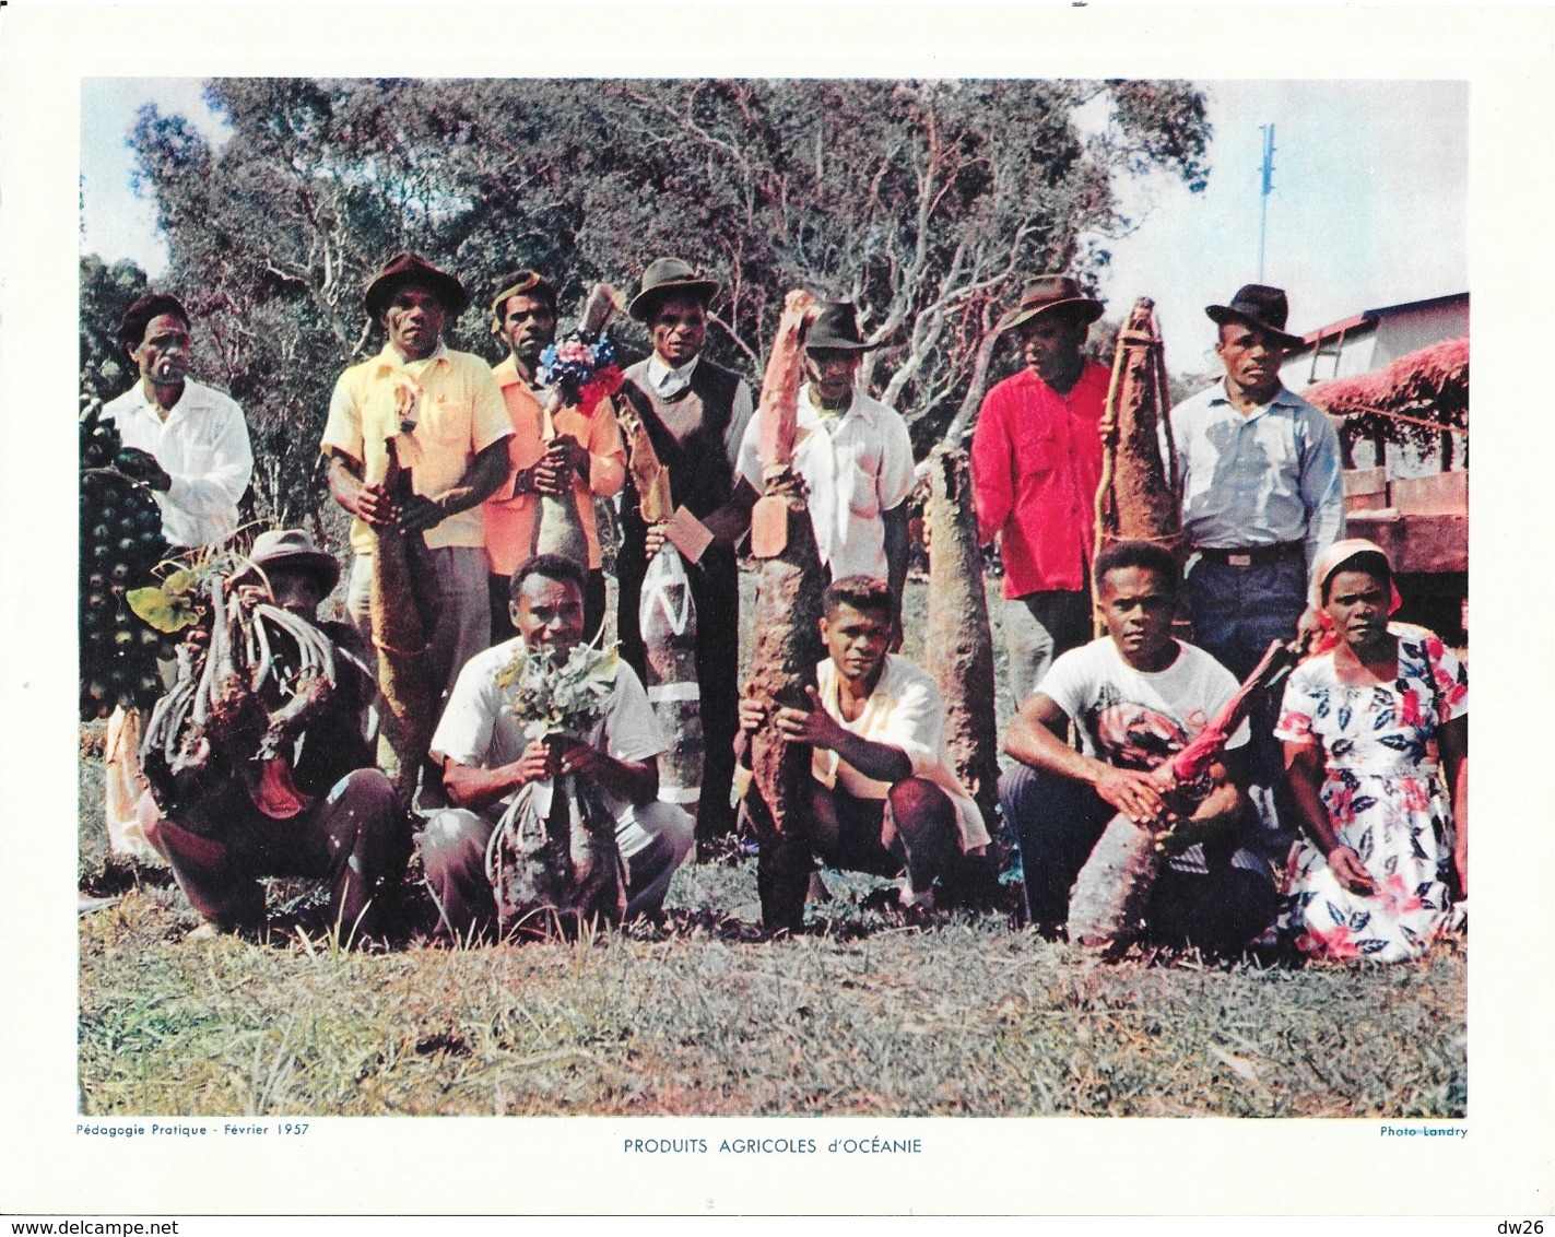
[[[1028,765],[998,780],[998,802],[1020,845],[1026,915],[1056,926],[1068,920],[1070,889],[1116,814],[1090,786]],[[1274,922],[1274,886],[1213,855],[1208,875],[1163,867],[1144,912],[1144,936],[1160,945],[1196,945],[1235,954]]]

